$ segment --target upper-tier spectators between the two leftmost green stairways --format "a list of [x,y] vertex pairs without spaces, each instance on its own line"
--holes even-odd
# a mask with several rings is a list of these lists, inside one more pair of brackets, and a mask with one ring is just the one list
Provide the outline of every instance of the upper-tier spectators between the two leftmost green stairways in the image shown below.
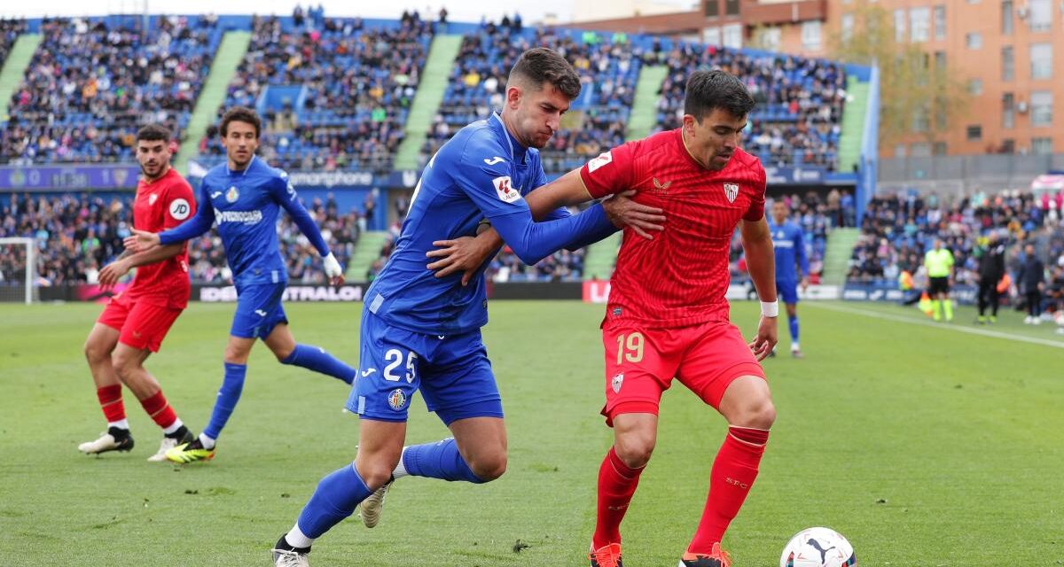
[[11,98],[0,163],[132,161],[136,130],[188,121],[221,31],[211,17],[44,19]]

